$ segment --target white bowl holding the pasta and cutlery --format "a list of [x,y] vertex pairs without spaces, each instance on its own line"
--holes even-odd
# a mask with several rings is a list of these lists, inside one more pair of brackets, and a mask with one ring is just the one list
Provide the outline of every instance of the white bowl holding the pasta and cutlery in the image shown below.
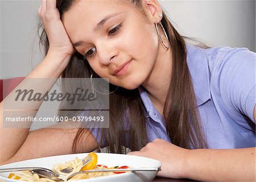
[[[58,155],[51,156],[47,158],[38,158],[31,160],[24,160],[21,162],[6,164],[0,166],[0,168],[14,168],[14,167],[44,167],[51,169],[53,164],[64,163],[69,160],[75,159],[75,157],[82,159],[88,153],[84,154],[71,154],[71,155]],[[160,168],[162,163],[159,160],[144,158],[141,156],[134,155],[123,155],[123,154],[108,154],[108,153],[96,153],[98,155],[98,164],[104,164],[108,167],[113,166],[129,166],[132,168],[139,167],[154,167]],[[18,182],[18,180],[8,179],[7,176],[10,172],[0,173],[0,181],[11,181]],[[129,172],[129,173],[120,173],[117,175],[111,176],[102,176],[92,179],[76,180],[77,182],[147,182],[152,181],[157,175],[157,171],[138,171],[138,172]],[[20,181],[21,182],[21,181]]]

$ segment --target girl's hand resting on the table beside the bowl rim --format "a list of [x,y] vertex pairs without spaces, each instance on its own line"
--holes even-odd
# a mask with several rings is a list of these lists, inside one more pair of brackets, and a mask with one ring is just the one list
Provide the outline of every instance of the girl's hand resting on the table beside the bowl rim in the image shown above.
[[140,151],[129,152],[128,155],[138,155],[160,160],[162,167],[158,176],[182,178],[188,152],[189,150],[177,147],[163,139],[155,139]]

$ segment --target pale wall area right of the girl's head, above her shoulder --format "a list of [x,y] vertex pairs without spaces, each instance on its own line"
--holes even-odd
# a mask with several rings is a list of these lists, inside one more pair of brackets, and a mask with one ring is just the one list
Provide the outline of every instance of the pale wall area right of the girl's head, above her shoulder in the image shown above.
[[182,35],[255,51],[255,0],[160,1]]

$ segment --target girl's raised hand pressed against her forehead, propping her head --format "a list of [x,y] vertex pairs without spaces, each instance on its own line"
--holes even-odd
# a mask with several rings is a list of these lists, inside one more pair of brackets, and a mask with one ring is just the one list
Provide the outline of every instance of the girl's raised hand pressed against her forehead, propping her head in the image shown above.
[[56,8],[56,0],[41,0],[38,14],[48,36],[49,51],[64,56],[73,55],[75,48],[60,19],[59,10]]

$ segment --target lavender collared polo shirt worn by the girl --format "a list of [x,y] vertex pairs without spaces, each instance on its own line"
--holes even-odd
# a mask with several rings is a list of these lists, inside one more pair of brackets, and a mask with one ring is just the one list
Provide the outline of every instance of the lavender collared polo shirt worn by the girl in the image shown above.
[[[255,146],[255,60],[256,54],[247,48],[202,49],[187,44],[187,64],[210,148]],[[148,141],[160,138],[171,142],[162,115],[142,86],[139,92]],[[96,137],[95,130],[92,133]]]

